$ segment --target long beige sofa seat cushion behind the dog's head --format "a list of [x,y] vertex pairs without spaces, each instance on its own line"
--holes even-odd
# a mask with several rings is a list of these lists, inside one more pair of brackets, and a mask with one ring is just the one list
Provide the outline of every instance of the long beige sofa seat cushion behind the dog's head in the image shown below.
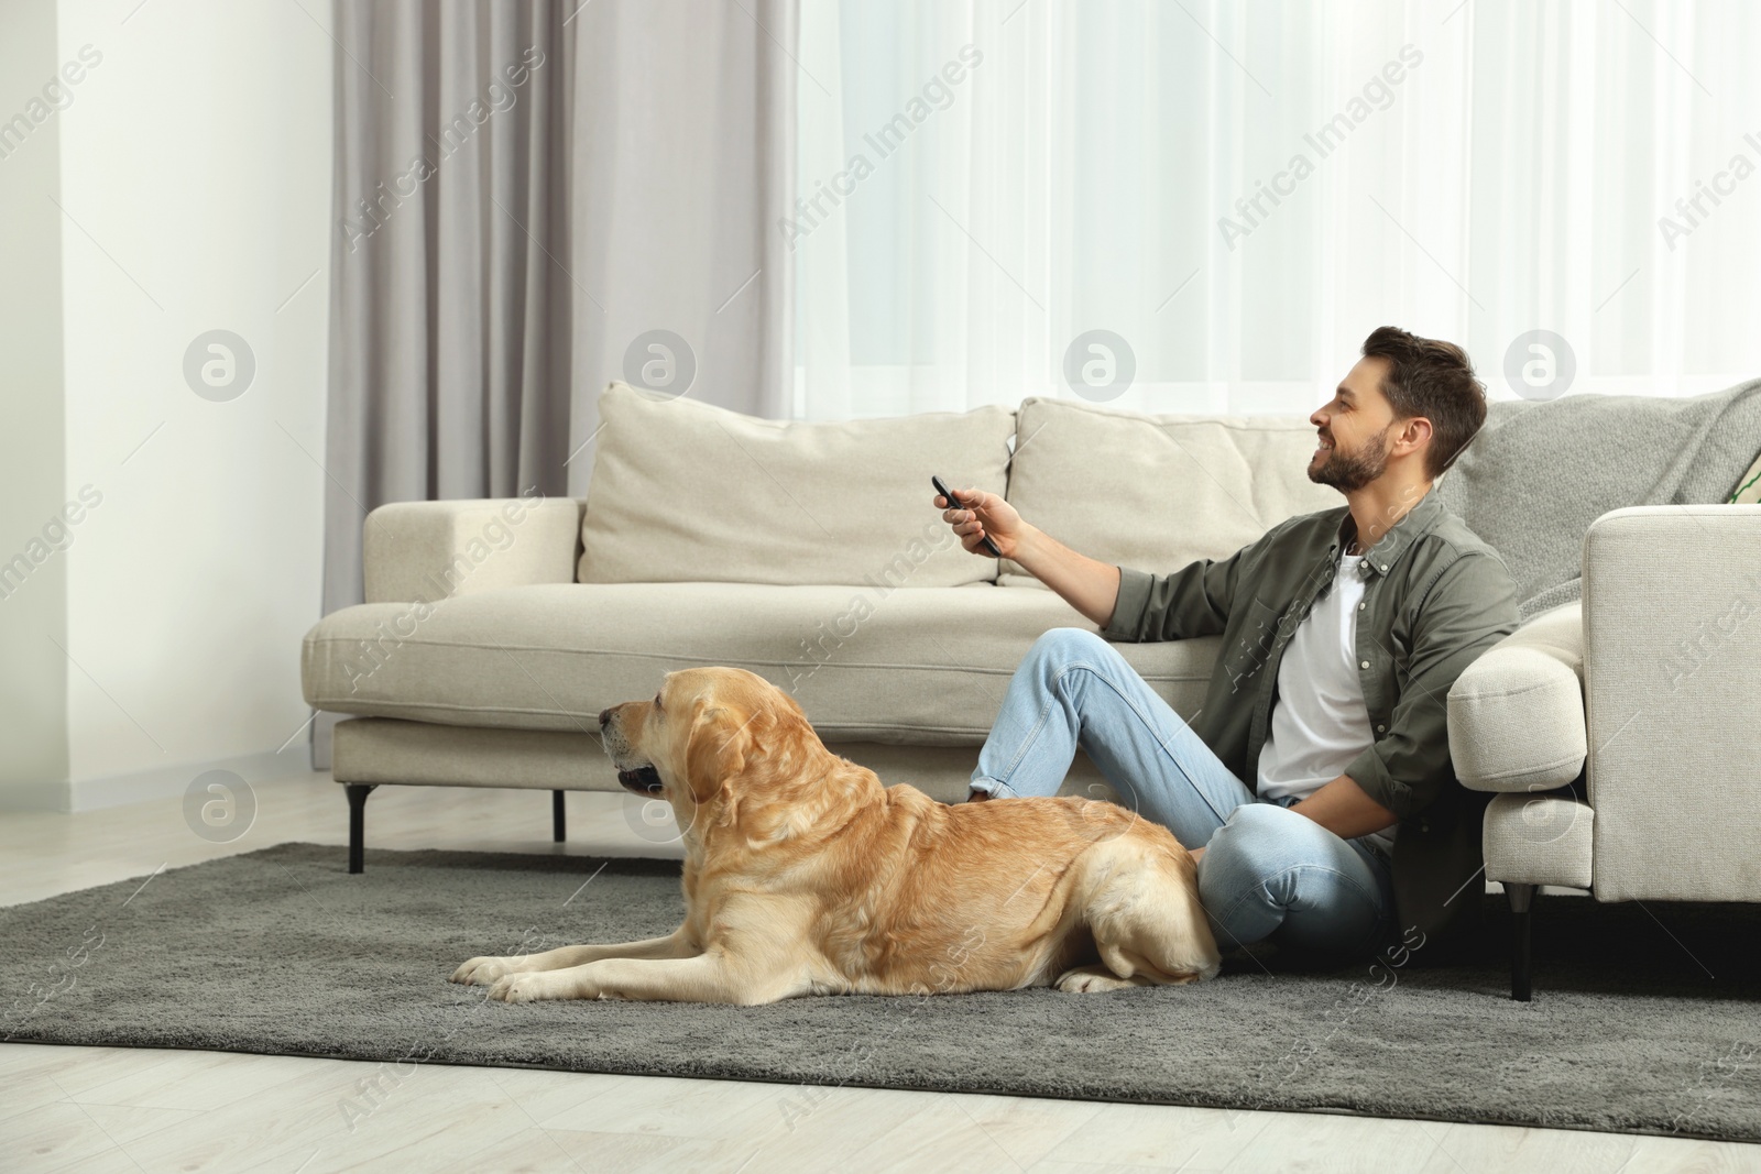
[[[750,669],[794,695],[821,737],[983,745],[1016,665],[1050,628],[1081,627],[1050,591],[752,583],[567,583],[361,604],[306,634],[317,709],[597,734],[601,709],[662,674]],[[1217,637],[1116,644],[1176,711],[1201,704]]]

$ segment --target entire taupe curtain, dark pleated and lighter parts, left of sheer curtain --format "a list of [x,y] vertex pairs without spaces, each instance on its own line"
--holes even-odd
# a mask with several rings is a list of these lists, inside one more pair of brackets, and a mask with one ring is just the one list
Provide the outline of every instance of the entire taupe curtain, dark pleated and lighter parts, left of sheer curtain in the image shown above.
[[375,505],[588,489],[639,336],[787,415],[796,0],[336,0],[324,611]]

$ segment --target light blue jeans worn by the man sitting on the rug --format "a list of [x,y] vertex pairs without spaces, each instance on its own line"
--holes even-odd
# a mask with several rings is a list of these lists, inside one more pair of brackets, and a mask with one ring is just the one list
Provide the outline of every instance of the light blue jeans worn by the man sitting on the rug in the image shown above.
[[1053,628],[1011,678],[972,789],[1055,796],[1078,746],[1120,804],[1205,848],[1199,901],[1220,949],[1270,938],[1345,959],[1396,936],[1381,848],[1257,797],[1097,632]]

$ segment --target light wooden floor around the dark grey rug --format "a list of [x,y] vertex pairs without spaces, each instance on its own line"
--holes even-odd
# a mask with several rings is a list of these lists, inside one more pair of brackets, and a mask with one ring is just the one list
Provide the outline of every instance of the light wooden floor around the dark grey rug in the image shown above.
[[[0,815],[0,905],[285,840],[343,843],[328,776],[255,792],[255,825],[229,845],[192,834],[176,801]],[[567,852],[664,854],[627,827],[620,796],[571,796],[569,818]],[[368,843],[558,850],[548,792],[417,787],[373,794]],[[5,1044],[0,1170],[1761,1170],[1757,1146],[1662,1137],[438,1065],[379,1077],[387,1091],[350,1130],[342,1104],[377,1070]]]

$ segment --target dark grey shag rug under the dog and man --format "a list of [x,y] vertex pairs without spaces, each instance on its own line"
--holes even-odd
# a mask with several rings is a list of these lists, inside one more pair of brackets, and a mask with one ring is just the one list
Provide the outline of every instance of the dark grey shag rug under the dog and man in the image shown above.
[[1541,898],[1527,1005],[1502,959],[1372,977],[1275,952],[1189,987],[752,1009],[504,1005],[447,982],[474,954],[657,936],[682,914],[673,861],[377,850],[349,877],[343,848],[284,843],[0,908],[0,1038],[1761,1141],[1752,906]]

